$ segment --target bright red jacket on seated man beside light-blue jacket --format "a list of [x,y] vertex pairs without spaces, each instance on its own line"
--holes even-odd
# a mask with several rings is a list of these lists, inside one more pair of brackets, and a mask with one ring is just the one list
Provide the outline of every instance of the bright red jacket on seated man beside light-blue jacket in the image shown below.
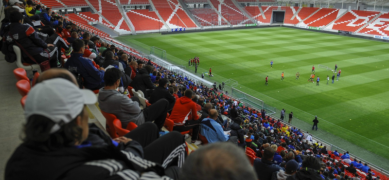
[[197,120],[196,103],[189,97],[180,97],[176,101],[169,119],[174,121],[174,126],[182,126],[188,120]]

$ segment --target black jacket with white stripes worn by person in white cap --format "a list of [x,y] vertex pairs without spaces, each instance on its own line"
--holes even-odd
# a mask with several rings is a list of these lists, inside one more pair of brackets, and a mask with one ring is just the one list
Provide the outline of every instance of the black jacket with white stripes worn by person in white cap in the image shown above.
[[[90,132],[94,138],[88,138],[92,144],[97,143],[100,136],[94,130]],[[5,180],[170,179],[164,176],[162,166],[138,156],[140,150],[134,148],[134,144],[131,150],[127,144],[119,144],[118,148],[110,140],[100,140],[103,140],[100,145],[64,147],[54,151],[23,143],[6,165]]]

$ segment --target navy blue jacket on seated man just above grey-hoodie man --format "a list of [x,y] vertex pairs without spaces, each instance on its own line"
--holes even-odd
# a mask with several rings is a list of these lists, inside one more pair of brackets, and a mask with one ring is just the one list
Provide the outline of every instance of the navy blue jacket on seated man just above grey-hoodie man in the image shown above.
[[84,78],[84,87],[86,89],[95,89],[104,82],[104,71],[96,69],[92,61],[82,57],[82,55],[72,53],[65,63],[65,68],[73,74],[80,74]]

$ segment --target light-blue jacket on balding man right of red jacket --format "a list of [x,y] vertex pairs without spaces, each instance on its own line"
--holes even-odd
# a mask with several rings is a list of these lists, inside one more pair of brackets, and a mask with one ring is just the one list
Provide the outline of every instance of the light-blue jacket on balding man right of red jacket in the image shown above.
[[229,137],[224,134],[223,127],[211,118],[201,121],[200,134],[207,138],[208,143],[226,142]]

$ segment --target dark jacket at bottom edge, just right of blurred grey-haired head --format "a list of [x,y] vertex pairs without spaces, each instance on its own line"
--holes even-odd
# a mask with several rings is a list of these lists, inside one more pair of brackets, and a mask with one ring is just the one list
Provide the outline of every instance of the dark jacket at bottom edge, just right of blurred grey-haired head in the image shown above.
[[273,162],[263,158],[257,158],[254,160],[254,170],[257,173],[259,180],[270,180],[273,173],[279,171],[280,169],[285,171],[283,167],[273,164]]

